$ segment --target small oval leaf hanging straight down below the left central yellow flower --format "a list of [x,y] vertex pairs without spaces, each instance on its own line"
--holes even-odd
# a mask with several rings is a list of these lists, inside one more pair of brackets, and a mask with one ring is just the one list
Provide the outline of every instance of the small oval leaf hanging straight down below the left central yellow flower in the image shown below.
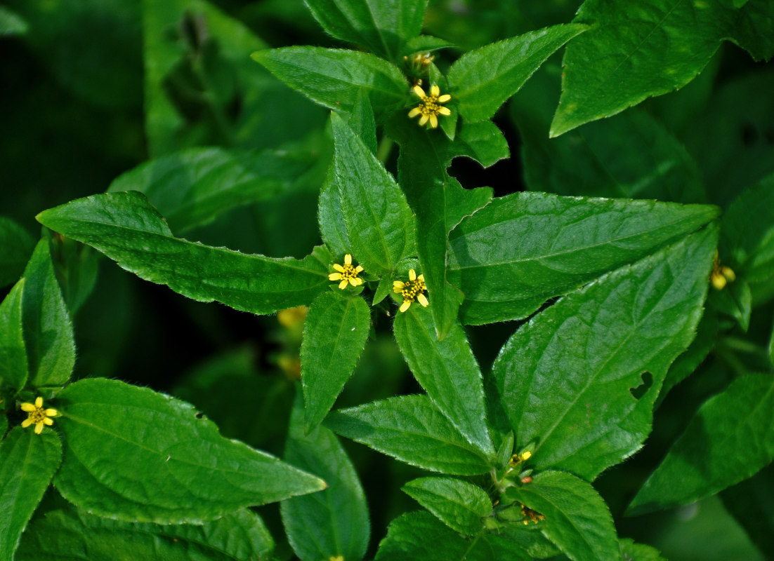
[[307,432],[334,405],[358,365],[371,328],[371,311],[357,294],[326,291],[312,302],[303,327],[301,382]]

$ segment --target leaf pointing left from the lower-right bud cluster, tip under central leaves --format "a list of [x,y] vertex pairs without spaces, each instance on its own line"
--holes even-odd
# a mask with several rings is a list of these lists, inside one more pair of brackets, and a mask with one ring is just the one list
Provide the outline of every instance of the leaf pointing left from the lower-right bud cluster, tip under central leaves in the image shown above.
[[325,426],[406,464],[450,475],[491,469],[426,396],[401,396],[330,413]]

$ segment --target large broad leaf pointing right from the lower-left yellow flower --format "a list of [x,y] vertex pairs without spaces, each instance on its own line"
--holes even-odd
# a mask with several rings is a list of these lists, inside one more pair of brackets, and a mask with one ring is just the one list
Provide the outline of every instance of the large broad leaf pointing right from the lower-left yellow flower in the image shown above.
[[67,386],[57,406],[65,454],[54,485],[94,514],[198,523],[325,487],[276,457],[221,437],[194,406],[147,388],[84,379]]

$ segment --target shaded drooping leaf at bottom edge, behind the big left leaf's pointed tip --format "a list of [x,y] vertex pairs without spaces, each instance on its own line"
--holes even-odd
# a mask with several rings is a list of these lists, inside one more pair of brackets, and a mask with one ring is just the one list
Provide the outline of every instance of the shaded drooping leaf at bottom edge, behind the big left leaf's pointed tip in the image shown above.
[[334,433],[316,427],[305,435],[304,424],[303,403],[296,396],[285,460],[324,479],[328,487],[280,504],[290,545],[302,561],[362,559],[371,525],[358,474]]

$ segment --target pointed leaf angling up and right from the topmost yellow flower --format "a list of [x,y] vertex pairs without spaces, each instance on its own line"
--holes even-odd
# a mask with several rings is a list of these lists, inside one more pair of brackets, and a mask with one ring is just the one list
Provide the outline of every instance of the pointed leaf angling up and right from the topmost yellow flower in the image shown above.
[[549,56],[586,29],[574,23],[546,27],[465,53],[447,75],[461,117],[492,117]]

